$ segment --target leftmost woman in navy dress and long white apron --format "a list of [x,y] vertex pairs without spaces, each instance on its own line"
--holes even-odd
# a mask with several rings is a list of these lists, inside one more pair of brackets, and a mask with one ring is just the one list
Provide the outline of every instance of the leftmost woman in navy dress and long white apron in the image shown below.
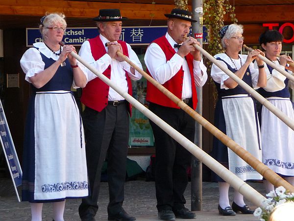
[[66,198],[88,195],[84,132],[71,87],[84,87],[87,77],[61,47],[65,16],[52,13],[41,19],[43,42],[34,43],[21,59],[25,80],[31,83],[25,125],[23,194],[32,221],[42,220],[44,202],[53,202],[53,220],[63,221]]

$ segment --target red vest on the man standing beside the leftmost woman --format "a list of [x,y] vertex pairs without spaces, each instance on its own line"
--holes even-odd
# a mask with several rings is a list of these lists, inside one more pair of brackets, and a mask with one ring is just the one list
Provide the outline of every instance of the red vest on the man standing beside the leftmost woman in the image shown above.
[[[91,53],[95,60],[98,60],[100,57],[106,54],[105,47],[99,35],[95,38],[89,39],[88,41],[90,43]],[[123,55],[128,56],[126,43],[120,40],[118,40],[118,43],[122,45]],[[107,69],[103,72],[103,75],[110,79],[110,73],[111,66],[109,65]],[[127,75],[127,72],[125,72],[125,76],[128,85],[128,93],[132,95],[132,83],[129,76]],[[87,107],[100,112],[107,106],[108,92],[109,86],[101,81],[99,78],[95,78],[88,82],[87,85],[83,88],[81,102]],[[129,112],[131,113],[130,105]]]

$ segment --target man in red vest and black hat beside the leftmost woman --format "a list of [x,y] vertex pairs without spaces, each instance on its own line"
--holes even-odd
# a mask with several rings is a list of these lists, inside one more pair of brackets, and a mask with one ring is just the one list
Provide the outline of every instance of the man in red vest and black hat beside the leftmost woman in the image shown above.
[[[84,42],[79,55],[125,92],[132,93],[132,80],[141,74],[117,55],[121,52],[142,68],[138,56],[124,41],[119,40],[122,21],[119,9],[100,9],[94,18],[99,35]],[[81,102],[86,106],[83,123],[86,136],[86,156],[90,182],[89,196],[82,199],[79,215],[82,221],[95,221],[101,168],[107,153],[109,185],[108,220],[133,221],[123,210],[126,155],[131,107],[114,89],[86,70],[88,83],[83,88]],[[129,113],[128,113],[129,112]]]

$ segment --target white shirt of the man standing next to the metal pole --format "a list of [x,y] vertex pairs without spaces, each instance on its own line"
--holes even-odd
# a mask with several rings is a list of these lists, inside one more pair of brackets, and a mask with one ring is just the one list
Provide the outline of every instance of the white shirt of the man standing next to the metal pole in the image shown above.
[[[165,37],[172,47],[174,44],[176,44],[176,42],[168,33],[166,33]],[[174,50],[175,52],[178,51],[177,48]],[[184,78],[182,99],[192,98],[191,75],[186,59],[175,53],[172,58],[167,61],[166,55],[160,46],[156,43],[152,43],[147,48],[144,60],[151,76],[161,84],[169,81],[180,70],[181,66],[183,66]],[[193,60],[193,67],[195,85],[203,86],[208,77],[203,60]]]

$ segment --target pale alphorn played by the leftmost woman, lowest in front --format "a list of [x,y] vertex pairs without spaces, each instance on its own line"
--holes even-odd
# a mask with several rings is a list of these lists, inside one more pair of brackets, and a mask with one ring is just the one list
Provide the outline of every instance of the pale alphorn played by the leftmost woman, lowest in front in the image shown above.
[[[63,45],[62,43],[60,43]],[[169,134],[174,140],[176,140],[179,144],[181,144],[185,149],[187,149],[190,153],[192,153],[199,161],[203,162],[206,166],[212,169],[216,174],[218,174],[223,180],[229,183],[235,190],[239,193],[243,194],[246,199],[252,202],[256,206],[261,206],[262,201],[265,199],[263,195],[254,190],[251,186],[246,184],[243,180],[237,177],[234,173],[229,171],[227,168],[222,166],[218,161],[213,159],[203,150],[196,146],[189,139],[185,138],[178,131],[176,131],[172,126],[167,124],[153,112],[149,111],[144,105],[142,105],[139,101],[125,92],[122,88],[120,88],[116,83],[110,81],[106,76],[102,73],[98,72],[92,65],[86,62],[79,55],[71,52],[71,55],[75,57],[80,63],[82,63],[85,67],[87,67],[90,71],[92,71],[96,76],[98,76],[101,81],[112,87],[116,92],[122,95],[125,100],[127,100],[130,104],[132,104],[138,111],[142,112],[146,115],[150,120],[152,120],[156,125],[158,125],[162,130],[164,130],[167,134]]]

